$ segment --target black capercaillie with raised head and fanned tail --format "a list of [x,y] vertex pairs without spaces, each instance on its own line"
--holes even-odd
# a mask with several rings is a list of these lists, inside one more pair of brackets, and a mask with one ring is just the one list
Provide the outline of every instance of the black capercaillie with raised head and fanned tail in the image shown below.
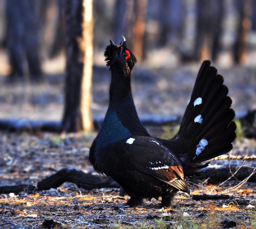
[[134,106],[131,71],[136,58],[124,37],[119,45],[110,40],[104,56],[111,71],[110,101],[89,160],[131,196],[127,205],[162,197],[161,206],[169,207],[178,190],[189,193],[184,176],[198,174],[209,164],[202,162],[232,149],[236,125],[228,88],[210,61],[204,61],[178,133],[172,139],[156,138],[143,127]]

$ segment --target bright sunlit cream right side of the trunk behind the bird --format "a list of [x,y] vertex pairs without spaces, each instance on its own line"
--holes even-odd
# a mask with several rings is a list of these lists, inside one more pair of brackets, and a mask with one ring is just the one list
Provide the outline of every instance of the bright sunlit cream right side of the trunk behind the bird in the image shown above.
[[92,67],[93,67],[93,1],[83,0],[83,45],[84,45],[84,66],[82,77],[81,114],[82,127],[85,131],[93,129],[91,119],[92,103]]

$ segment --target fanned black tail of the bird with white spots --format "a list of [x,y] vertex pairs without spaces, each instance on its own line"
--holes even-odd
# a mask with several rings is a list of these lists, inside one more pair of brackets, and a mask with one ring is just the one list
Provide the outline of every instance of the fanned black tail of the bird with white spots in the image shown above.
[[169,143],[164,142],[181,157],[187,167],[185,175],[186,170],[195,174],[208,165],[201,162],[232,149],[231,143],[236,138],[236,124],[232,121],[235,112],[230,108],[232,100],[223,81],[210,61],[204,61],[179,132]]

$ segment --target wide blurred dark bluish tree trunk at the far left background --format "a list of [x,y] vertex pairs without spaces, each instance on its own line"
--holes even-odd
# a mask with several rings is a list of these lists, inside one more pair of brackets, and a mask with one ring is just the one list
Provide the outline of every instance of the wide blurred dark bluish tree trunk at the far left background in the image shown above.
[[30,0],[8,0],[6,4],[7,47],[12,67],[10,76],[24,76],[26,59],[30,79],[33,81],[41,77],[37,3]]

